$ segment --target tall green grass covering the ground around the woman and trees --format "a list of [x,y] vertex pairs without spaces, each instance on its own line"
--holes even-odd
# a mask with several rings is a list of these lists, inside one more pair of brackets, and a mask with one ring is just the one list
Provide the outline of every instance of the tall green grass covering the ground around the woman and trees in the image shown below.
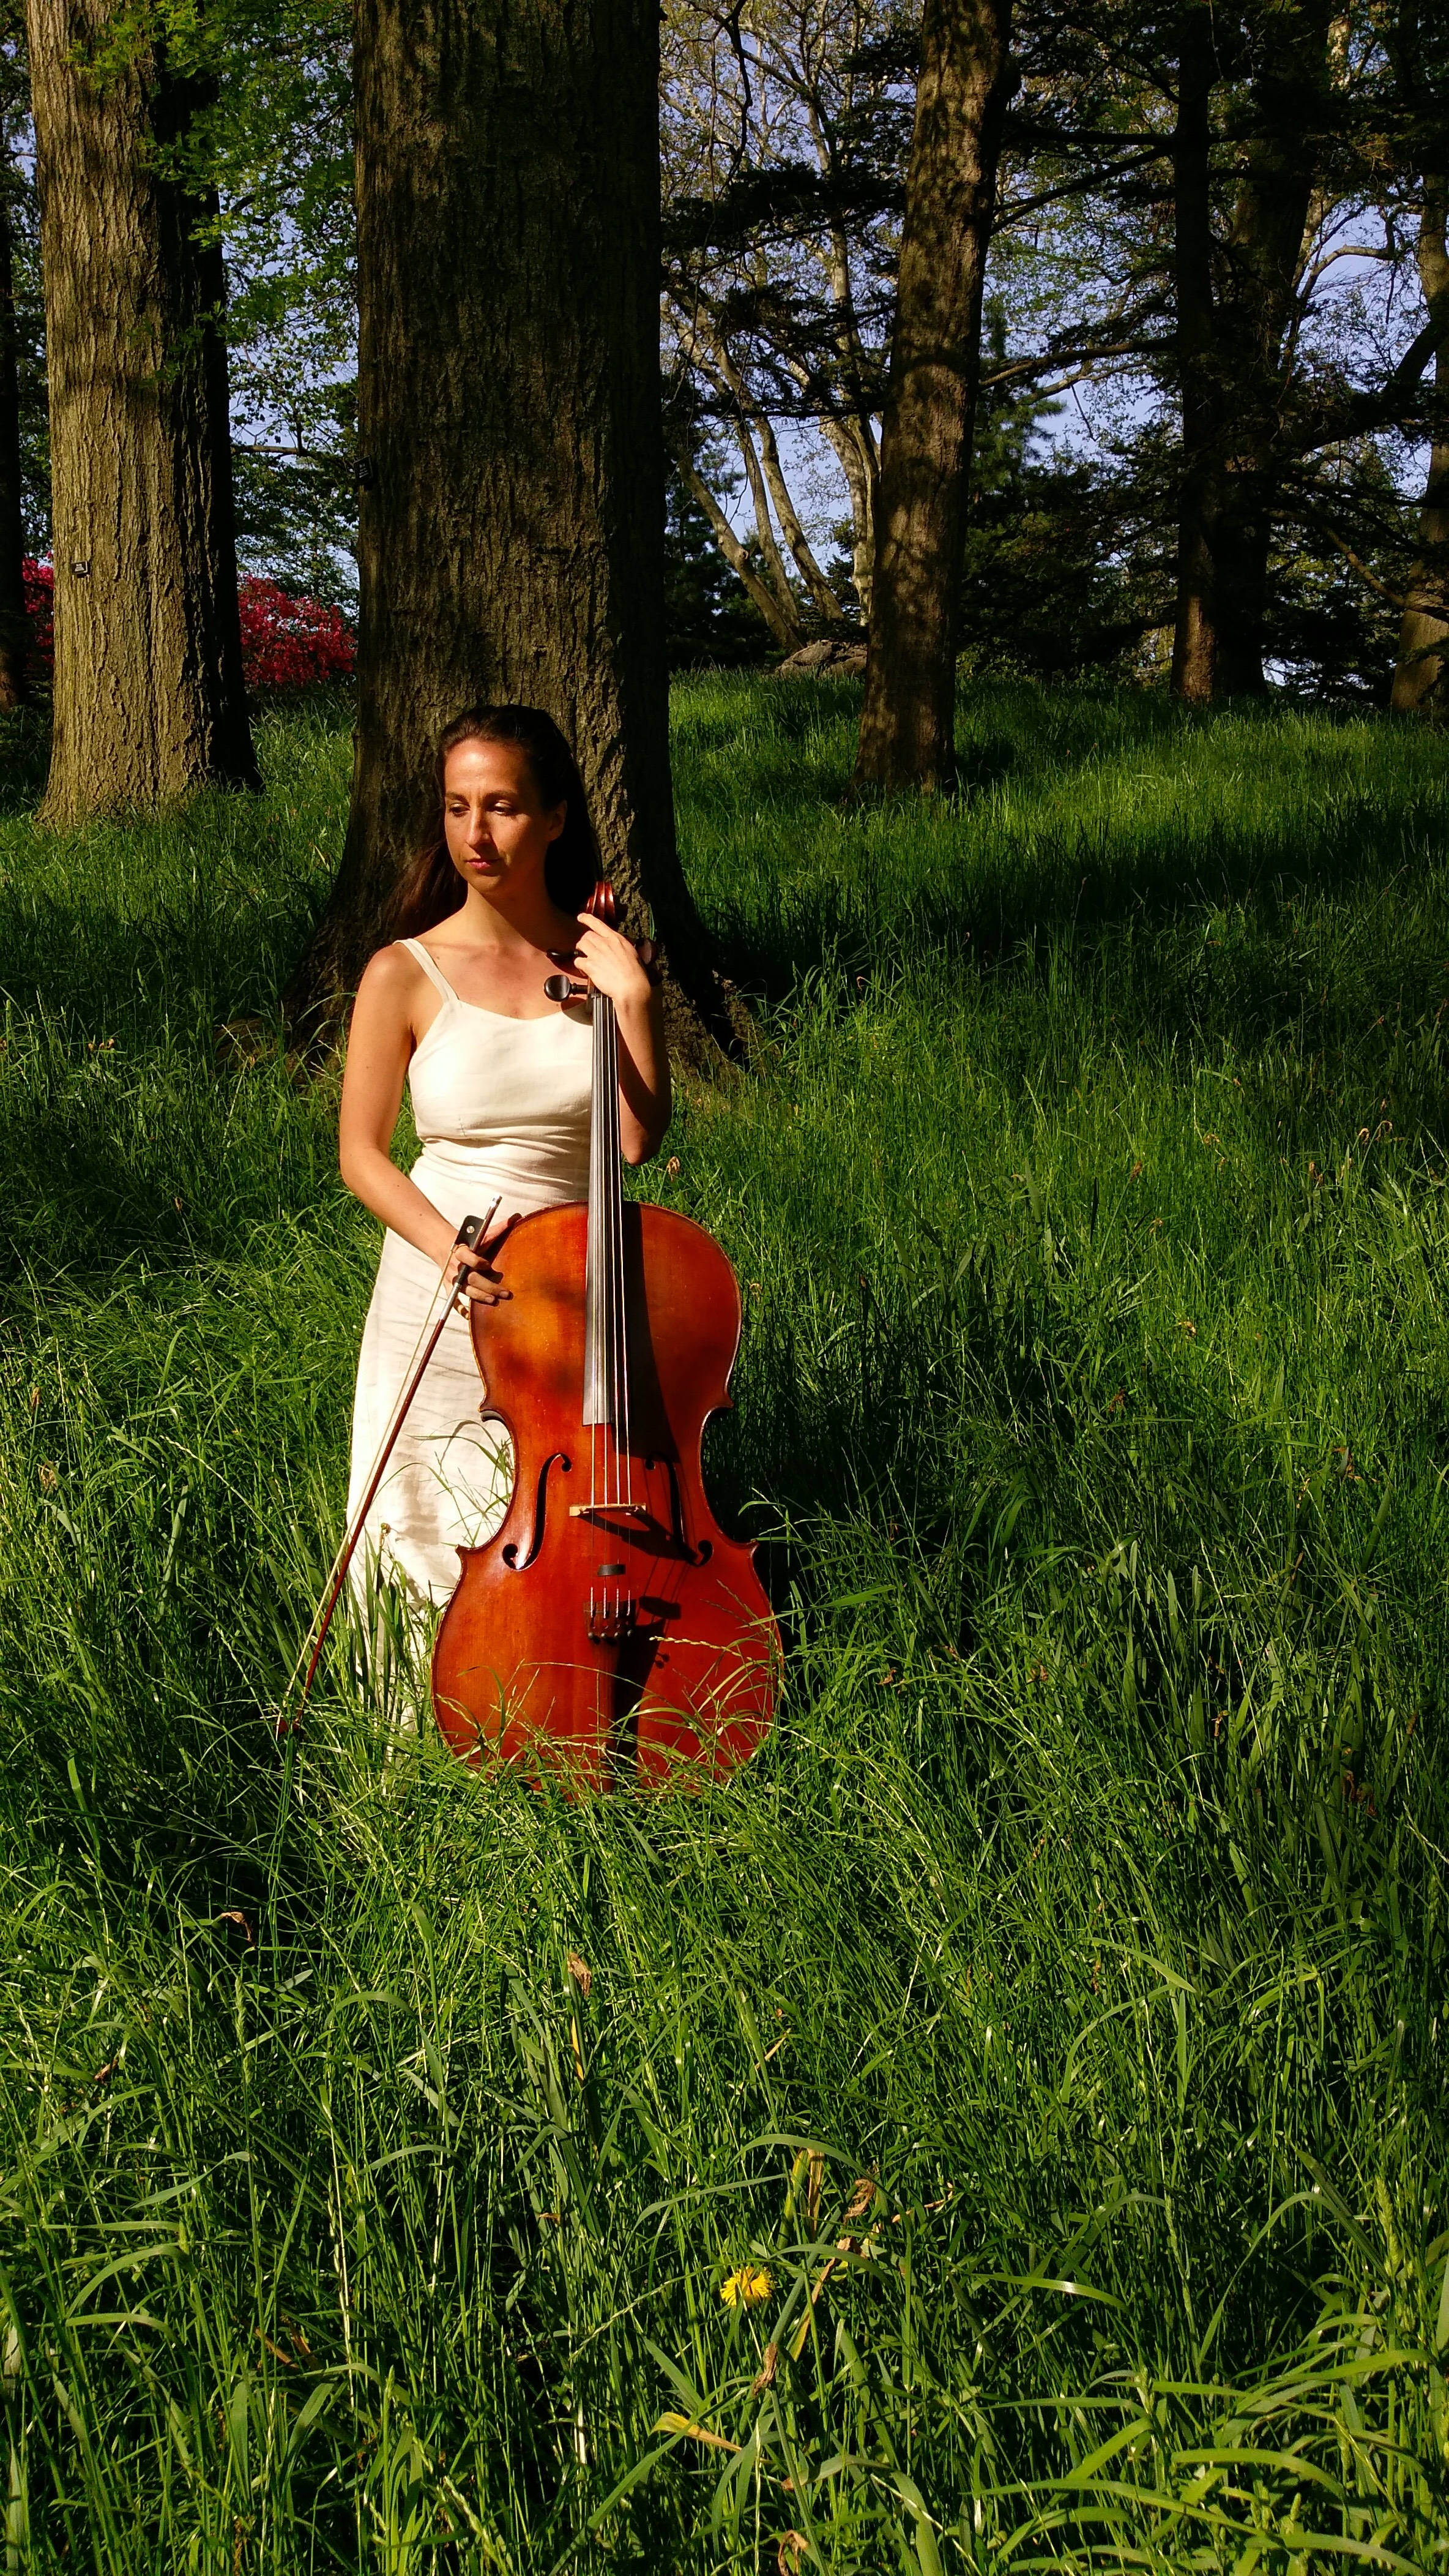
[[355,1641],[270,1728],[376,1234],[216,1028],[345,724],[67,840],[10,742],[8,2576],[1444,2563],[1444,742],[981,690],[860,814],[679,688],[788,1690],[569,1808]]

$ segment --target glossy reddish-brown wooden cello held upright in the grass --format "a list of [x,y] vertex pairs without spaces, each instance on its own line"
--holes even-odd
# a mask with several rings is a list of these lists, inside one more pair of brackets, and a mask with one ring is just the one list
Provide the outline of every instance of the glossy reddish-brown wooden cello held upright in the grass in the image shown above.
[[[607,878],[584,909],[615,927]],[[566,971],[543,989],[592,1015],[589,1198],[507,1226],[497,1303],[468,1309],[515,1481],[497,1535],[458,1548],[432,1705],[463,1759],[566,1793],[703,1785],[759,1747],[780,1672],[757,1551],[715,1522],[700,1463],[739,1283],[703,1226],[623,1195],[610,997]]]

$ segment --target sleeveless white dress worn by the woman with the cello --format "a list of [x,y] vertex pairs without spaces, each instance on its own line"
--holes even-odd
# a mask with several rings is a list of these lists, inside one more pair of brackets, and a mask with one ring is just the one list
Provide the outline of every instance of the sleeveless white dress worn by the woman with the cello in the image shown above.
[[[407,1069],[422,1154],[412,1180],[461,1226],[486,1216],[533,1216],[589,1195],[592,1033],[584,1010],[510,1020],[463,1002],[422,940],[401,940],[440,997],[438,1018]],[[376,1463],[391,1409],[414,1360],[440,1273],[425,1252],[383,1236],[378,1280],[353,1406],[347,1525]],[[458,1582],[458,1548],[476,1548],[507,1510],[512,1453],[497,1422],[479,1419],[484,1383],[468,1319],[450,1314],[432,1352],[353,1558],[365,1602],[401,1582],[412,1613],[440,1607]]]

